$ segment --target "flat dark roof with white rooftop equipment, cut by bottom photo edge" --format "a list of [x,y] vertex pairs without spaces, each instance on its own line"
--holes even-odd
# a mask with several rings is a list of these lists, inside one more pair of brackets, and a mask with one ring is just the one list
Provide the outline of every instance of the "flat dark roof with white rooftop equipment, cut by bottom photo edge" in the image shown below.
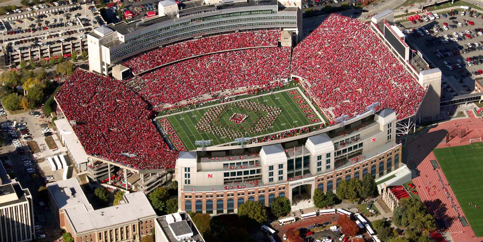
[[179,213],[179,215],[181,216],[182,220],[171,224],[168,224],[168,222],[166,221],[166,216],[170,216],[170,214],[159,217],[157,219],[168,241],[177,242],[175,235],[173,235],[173,232],[177,236],[186,235],[192,232],[193,237],[191,237],[190,241],[204,242],[203,237],[201,237],[201,234],[199,233],[198,229],[191,222],[190,217],[184,212]]

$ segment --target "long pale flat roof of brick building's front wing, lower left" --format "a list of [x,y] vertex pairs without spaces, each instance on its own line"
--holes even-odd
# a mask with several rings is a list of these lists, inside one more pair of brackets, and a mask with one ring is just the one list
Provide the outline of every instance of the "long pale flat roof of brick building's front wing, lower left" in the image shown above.
[[76,233],[93,231],[121,225],[140,219],[155,217],[156,212],[143,192],[133,192],[124,195],[120,205],[87,210],[79,205],[67,208],[65,213]]

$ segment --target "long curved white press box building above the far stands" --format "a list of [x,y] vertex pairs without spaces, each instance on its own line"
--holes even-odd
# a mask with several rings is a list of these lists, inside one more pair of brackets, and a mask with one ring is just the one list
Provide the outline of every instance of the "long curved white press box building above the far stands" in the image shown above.
[[159,46],[237,31],[282,29],[293,38],[286,38],[291,46],[302,27],[300,0],[196,0],[180,10],[170,7],[174,5],[173,0],[163,0],[157,17],[109,24],[89,33],[89,71],[109,75],[116,64]]

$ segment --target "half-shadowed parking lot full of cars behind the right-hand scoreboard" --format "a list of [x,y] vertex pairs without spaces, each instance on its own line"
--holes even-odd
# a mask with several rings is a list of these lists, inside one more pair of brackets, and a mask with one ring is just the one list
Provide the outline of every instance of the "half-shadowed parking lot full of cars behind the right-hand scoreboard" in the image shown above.
[[483,74],[483,14],[465,11],[462,16],[463,9],[457,12],[402,23],[409,43],[442,71],[444,97],[471,93],[474,78]]

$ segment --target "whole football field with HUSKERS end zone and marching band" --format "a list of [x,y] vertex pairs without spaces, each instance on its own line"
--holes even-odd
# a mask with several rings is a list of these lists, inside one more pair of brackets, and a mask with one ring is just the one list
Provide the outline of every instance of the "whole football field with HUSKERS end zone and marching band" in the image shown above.
[[201,147],[195,145],[197,140],[210,140],[210,146],[217,146],[236,138],[318,126],[325,122],[322,115],[299,87],[294,87],[221,104],[204,104],[160,116],[156,121],[174,148],[192,151]]

